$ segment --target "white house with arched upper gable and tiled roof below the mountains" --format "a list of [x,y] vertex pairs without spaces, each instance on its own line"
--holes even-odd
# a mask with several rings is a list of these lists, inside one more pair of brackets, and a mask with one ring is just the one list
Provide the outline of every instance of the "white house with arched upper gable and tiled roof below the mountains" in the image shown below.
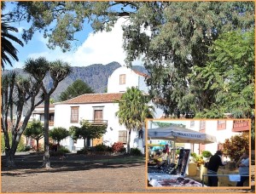
[[[119,125],[116,112],[119,111],[121,95],[127,88],[137,87],[144,93],[148,93],[145,77],[147,75],[138,71],[132,71],[127,67],[119,67],[108,77],[108,93],[106,94],[83,94],[71,100],[55,103],[55,127],[70,128],[79,126],[81,120],[89,120],[90,123],[108,123],[107,133],[101,140],[90,141],[90,145],[104,143],[113,145],[121,141],[126,146],[127,130],[124,125]],[[162,111],[155,108],[154,117],[160,117]],[[67,146],[69,150],[79,150],[84,147],[84,140],[74,141],[70,137],[61,141],[61,145]],[[89,144],[88,144],[89,145]],[[131,131],[130,146],[137,147],[143,151],[143,140],[138,139],[138,132]]]

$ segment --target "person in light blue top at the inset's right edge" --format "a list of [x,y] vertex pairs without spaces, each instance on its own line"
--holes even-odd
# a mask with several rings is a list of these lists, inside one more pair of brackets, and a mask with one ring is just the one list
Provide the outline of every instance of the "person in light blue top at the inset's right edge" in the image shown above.
[[236,163],[236,167],[239,168],[239,174],[241,176],[236,186],[243,186],[243,183],[249,179],[249,166],[249,154],[248,152],[244,152]]

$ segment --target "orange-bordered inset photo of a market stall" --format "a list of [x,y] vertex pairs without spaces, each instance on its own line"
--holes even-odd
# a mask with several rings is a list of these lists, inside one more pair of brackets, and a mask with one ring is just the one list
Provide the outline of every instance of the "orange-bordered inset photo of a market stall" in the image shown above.
[[250,119],[148,119],[147,188],[250,188]]

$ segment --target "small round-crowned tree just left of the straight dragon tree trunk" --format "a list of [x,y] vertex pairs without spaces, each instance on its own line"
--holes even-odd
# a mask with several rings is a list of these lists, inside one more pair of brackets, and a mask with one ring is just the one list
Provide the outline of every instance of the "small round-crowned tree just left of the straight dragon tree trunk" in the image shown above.
[[44,137],[43,124],[37,120],[33,120],[32,122],[27,123],[24,135],[26,137],[32,137],[32,139],[37,140],[37,151],[39,151],[39,140]]

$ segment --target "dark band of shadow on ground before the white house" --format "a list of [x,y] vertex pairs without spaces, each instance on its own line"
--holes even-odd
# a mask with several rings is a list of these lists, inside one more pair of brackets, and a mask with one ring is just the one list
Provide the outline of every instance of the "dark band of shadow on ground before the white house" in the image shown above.
[[[44,168],[43,154],[28,154],[15,156],[15,168],[6,166],[6,157],[2,156],[2,176],[24,174],[55,173],[61,171],[90,170],[91,168],[129,168],[145,163],[143,156],[88,156],[67,154],[66,157],[50,157],[51,168]],[[16,171],[10,173],[9,171]],[[19,170],[23,170],[19,173]],[[24,171],[25,170],[25,171]]]

